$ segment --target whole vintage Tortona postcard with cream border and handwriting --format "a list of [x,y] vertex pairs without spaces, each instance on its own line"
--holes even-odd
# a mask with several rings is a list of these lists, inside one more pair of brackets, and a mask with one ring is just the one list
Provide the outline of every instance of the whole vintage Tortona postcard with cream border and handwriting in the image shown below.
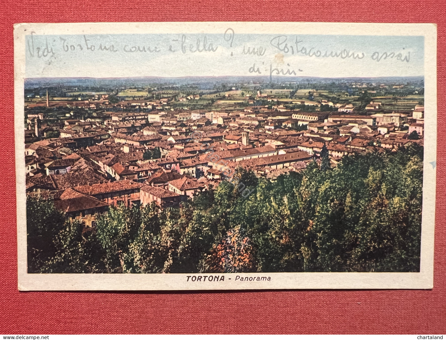
[[430,289],[433,24],[17,24],[19,290]]

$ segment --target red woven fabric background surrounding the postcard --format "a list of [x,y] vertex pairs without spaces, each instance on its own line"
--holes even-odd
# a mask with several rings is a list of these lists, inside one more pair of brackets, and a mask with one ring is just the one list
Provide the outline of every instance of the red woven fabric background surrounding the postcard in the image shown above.
[[[1,1],[0,333],[446,333],[446,2]],[[433,290],[19,292],[13,38],[19,22],[350,21],[438,24],[438,162]]]

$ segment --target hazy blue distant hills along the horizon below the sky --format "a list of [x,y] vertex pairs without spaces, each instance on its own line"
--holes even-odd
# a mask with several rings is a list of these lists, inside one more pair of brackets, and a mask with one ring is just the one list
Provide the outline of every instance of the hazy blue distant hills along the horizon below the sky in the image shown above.
[[[318,77],[289,77],[273,76],[274,83],[421,83],[423,76],[416,77],[377,77],[377,78],[318,78]],[[240,83],[269,83],[269,76],[222,76],[222,77],[125,77],[125,78],[27,78],[25,88],[52,87],[52,86],[86,86],[86,87],[128,87],[147,86],[154,84],[186,85],[194,84],[208,88],[213,84],[240,84]]]

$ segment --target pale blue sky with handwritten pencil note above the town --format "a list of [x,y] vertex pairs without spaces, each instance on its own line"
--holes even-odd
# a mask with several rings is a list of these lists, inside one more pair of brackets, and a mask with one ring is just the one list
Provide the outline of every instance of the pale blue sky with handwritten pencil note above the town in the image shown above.
[[[235,34],[233,40],[229,35],[226,38],[223,34],[102,34],[85,38],[83,35],[34,34],[32,39],[28,35],[25,74],[26,78],[259,75],[250,72],[258,68],[261,75],[268,76],[274,69],[284,72],[289,69],[298,76],[314,77],[424,75],[422,36]],[[189,46],[193,44],[195,50],[197,39],[199,49],[206,39],[207,49],[212,44],[215,51],[191,52]],[[107,48],[113,45],[116,52],[99,50],[100,45]],[[140,46],[141,50],[145,47],[146,52],[125,52],[132,46]],[[169,51],[170,46],[173,52]],[[246,51],[260,47],[264,52],[261,56],[242,52],[244,48]],[[149,48],[158,52],[148,52]],[[52,53],[48,53],[51,49]],[[320,56],[304,54],[309,51]],[[363,58],[330,56],[341,51],[344,57],[354,53]],[[48,55],[42,56],[42,53]],[[381,57],[384,53],[393,58]],[[398,60],[399,54],[405,60]]]

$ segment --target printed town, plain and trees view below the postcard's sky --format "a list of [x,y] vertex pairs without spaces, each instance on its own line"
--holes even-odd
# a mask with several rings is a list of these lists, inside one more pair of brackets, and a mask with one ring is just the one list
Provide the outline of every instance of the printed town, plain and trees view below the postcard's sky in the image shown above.
[[424,79],[25,79],[29,273],[417,272]]

